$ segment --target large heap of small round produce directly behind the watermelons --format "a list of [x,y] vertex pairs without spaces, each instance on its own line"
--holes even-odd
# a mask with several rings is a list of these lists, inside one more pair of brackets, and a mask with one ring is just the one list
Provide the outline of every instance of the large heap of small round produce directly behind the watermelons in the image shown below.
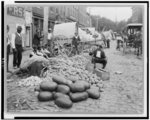
[[50,61],[47,76],[52,75],[64,76],[68,80],[74,81],[87,81],[90,84],[102,85],[101,78],[96,74],[86,70],[86,65],[89,62],[86,57],[77,55],[71,58],[58,56]]

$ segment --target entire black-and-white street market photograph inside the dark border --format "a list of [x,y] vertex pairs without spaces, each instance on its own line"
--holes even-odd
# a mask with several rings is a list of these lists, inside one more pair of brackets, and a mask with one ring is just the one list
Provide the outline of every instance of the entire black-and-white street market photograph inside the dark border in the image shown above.
[[145,5],[4,3],[5,111],[145,114]]

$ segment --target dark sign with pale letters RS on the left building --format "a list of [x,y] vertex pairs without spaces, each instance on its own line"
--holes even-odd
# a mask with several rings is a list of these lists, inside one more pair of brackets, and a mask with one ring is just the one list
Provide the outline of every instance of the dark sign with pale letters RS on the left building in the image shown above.
[[7,14],[15,17],[24,18],[24,8],[18,6],[7,7]]

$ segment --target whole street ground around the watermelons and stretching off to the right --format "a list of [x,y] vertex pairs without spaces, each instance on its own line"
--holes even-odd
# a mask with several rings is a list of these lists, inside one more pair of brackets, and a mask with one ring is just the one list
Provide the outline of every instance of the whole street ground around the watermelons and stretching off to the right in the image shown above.
[[[104,81],[100,99],[89,98],[86,101],[74,103],[70,109],[61,109],[54,102],[38,102],[34,88],[17,87],[16,77],[16,81],[7,82],[8,111],[16,111],[16,101],[24,98],[28,102],[21,111],[142,114],[144,106],[143,59],[137,58],[134,54],[123,55],[122,51],[116,50],[115,41],[111,42],[110,49],[105,49],[105,52],[108,57],[106,70],[110,72],[110,80]],[[17,109],[17,111],[20,110]]]

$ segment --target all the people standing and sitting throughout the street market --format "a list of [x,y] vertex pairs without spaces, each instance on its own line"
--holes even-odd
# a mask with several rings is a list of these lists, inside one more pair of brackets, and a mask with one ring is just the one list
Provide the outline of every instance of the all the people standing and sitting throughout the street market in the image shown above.
[[[23,52],[23,47],[24,47],[24,42],[22,40],[22,27],[18,26],[17,30],[14,34],[10,35],[9,33],[9,26],[7,25],[7,71],[9,72],[9,54],[10,50],[12,48],[13,52],[13,68],[20,68],[21,61],[22,61],[22,52]],[[124,34],[120,34],[120,36],[124,39]],[[135,34],[135,40],[138,41],[138,44],[141,42],[141,32],[137,30]],[[130,36],[132,37],[132,35]],[[40,31],[37,29],[36,33],[34,34],[33,38],[33,51],[30,53],[29,57],[33,56],[43,56],[44,58],[48,59],[51,56],[53,56],[53,52],[57,51],[58,52],[58,45],[55,45],[53,42],[53,35],[52,35],[52,29],[48,29],[48,34],[47,34],[47,43],[46,44],[41,44],[41,39],[43,38],[43,35],[40,35]],[[126,41],[124,41],[126,42]],[[79,45],[81,43],[80,37],[78,33],[76,32],[74,37],[72,38],[72,48],[74,55],[80,54],[79,52]],[[105,40],[107,48],[110,48],[110,40]],[[105,44],[104,44],[105,45]],[[120,40],[117,40],[117,49],[120,46]],[[96,63],[100,63],[103,65],[103,69],[105,69],[106,64],[107,64],[107,58],[105,55],[105,52],[103,50],[102,45],[97,45],[97,49],[94,51],[90,52],[89,55],[92,56],[92,63],[94,64],[94,68],[96,68]]]

